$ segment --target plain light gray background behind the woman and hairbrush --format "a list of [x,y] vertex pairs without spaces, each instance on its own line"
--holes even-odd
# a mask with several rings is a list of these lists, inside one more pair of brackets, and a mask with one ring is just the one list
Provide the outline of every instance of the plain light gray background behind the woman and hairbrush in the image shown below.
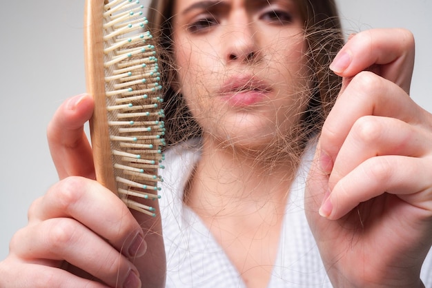
[[[404,27],[416,37],[411,96],[432,112],[432,1],[339,0],[344,26]],[[0,9],[0,260],[32,200],[57,181],[46,126],[69,96],[85,91],[84,1],[21,0]]]

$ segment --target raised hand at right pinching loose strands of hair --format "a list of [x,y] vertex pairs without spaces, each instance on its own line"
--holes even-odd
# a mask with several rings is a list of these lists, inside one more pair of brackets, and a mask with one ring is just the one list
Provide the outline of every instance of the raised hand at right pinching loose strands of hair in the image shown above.
[[[362,32],[339,55],[331,67],[344,87],[306,191],[311,230],[335,287],[422,287],[432,243],[432,117],[409,98],[413,36]],[[364,72],[371,66],[375,73]]]

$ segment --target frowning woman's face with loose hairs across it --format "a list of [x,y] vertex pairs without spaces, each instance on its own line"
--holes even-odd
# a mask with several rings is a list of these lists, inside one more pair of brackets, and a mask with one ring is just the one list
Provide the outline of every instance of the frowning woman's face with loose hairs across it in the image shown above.
[[204,136],[260,146],[289,134],[308,94],[293,0],[181,0],[174,15],[179,89]]

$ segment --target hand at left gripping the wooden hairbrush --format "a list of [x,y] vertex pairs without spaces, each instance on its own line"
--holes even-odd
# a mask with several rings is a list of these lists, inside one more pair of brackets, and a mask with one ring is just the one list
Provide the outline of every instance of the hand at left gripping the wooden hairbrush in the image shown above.
[[150,287],[164,287],[163,242],[149,232],[158,231],[155,221],[130,212],[93,180],[84,134],[93,105],[88,94],[72,97],[50,122],[60,181],[32,203],[28,226],[12,238],[0,263],[1,287],[140,287],[139,276]]

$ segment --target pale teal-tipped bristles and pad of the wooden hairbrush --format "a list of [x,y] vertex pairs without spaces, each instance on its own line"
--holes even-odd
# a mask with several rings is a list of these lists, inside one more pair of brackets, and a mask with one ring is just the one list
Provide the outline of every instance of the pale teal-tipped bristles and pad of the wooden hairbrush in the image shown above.
[[126,205],[155,216],[134,198],[159,198],[164,112],[152,36],[139,1],[106,1],[104,70],[106,113],[117,194]]

